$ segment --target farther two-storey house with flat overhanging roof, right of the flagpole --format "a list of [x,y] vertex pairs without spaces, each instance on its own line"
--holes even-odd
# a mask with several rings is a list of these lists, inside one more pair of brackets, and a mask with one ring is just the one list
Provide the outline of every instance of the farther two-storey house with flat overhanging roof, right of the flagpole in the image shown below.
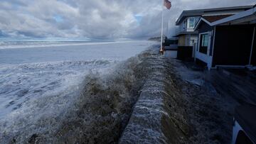
[[[198,29],[195,29],[195,27],[202,17],[218,15],[218,18],[225,18],[251,8],[252,6],[234,6],[216,9],[197,9],[183,11],[176,21],[176,26],[178,26],[176,29],[178,46],[194,46],[198,42]],[[211,22],[215,20],[215,17],[209,17],[208,19],[208,21]]]

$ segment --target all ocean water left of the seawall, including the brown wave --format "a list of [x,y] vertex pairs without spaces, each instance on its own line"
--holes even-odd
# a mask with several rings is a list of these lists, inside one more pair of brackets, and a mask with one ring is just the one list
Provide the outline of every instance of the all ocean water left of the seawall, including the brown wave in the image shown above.
[[0,143],[117,141],[144,79],[127,58],[151,44],[1,48]]

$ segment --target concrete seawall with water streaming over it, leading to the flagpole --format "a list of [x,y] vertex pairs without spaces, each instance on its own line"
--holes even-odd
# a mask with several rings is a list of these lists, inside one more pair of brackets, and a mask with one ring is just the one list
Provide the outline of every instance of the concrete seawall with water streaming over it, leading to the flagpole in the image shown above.
[[184,100],[177,94],[171,77],[172,65],[159,55],[149,55],[148,61],[153,72],[142,88],[119,143],[186,143],[188,125],[181,109]]

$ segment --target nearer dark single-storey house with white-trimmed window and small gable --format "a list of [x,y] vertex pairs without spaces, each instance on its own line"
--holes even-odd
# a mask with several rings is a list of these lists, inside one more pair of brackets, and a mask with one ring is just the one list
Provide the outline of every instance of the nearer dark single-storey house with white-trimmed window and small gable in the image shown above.
[[194,28],[198,31],[196,61],[206,64],[209,70],[256,65],[255,27],[255,6],[235,15],[201,16]]

